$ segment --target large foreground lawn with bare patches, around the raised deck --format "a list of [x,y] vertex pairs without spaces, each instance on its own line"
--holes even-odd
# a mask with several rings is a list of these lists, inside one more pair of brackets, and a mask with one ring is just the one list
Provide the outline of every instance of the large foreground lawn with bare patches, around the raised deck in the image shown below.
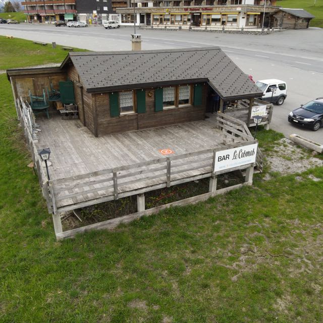
[[5,74],[0,97],[1,322],[323,321],[323,168],[57,242]]

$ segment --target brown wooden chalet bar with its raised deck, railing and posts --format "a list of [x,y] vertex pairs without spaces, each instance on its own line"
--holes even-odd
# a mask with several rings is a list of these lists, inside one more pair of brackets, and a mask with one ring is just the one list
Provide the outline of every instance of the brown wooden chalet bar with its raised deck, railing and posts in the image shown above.
[[[209,193],[181,205],[251,185],[254,166],[261,169],[245,122],[222,112],[232,104],[228,111],[244,109],[250,121],[262,105],[267,120],[272,104],[254,99],[261,91],[218,47],[75,52],[60,67],[7,75],[58,239],[158,211],[145,209],[144,192],[210,178]],[[209,91],[220,111],[205,119]],[[49,118],[35,116],[42,103]],[[50,179],[37,154],[45,147]],[[234,170],[246,170],[245,183],[217,189],[218,174]],[[137,213],[63,232],[63,212],[130,195]]]

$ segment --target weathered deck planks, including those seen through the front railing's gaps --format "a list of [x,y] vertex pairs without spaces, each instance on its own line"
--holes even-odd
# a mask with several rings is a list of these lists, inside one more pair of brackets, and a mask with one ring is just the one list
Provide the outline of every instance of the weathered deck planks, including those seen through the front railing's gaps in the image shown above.
[[[93,173],[101,170],[109,170],[115,167],[133,165],[144,161],[165,158],[166,156],[159,152],[159,149],[172,149],[177,156],[185,153],[191,153],[206,149],[212,149],[224,145],[223,133],[216,129],[214,116],[203,121],[184,123],[174,126],[152,128],[125,132],[122,134],[111,134],[95,138],[94,135],[84,127],[79,120],[62,120],[60,117],[51,119],[39,118],[37,123],[41,132],[38,133],[37,149],[49,147],[51,150],[49,174],[51,180],[64,179],[71,176]],[[198,176],[211,171],[212,154],[209,153],[209,166],[202,168],[205,161],[200,163],[200,169],[183,172],[172,175],[172,180]],[[205,158],[205,155],[204,155]],[[199,156],[193,157],[192,162],[199,165]],[[172,163],[172,170],[177,171],[177,160]],[[208,162],[207,162],[208,163]],[[207,164],[206,163],[206,164]],[[160,167],[160,164],[157,165]],[[152,166],[153,168],[154,166]],[[188,169],[190,165],[183,167]],[[134,172],[136,170],[132,170]],[[127,192],[135,189],[141,189],[151,185],[165,183],[166,170],[156,171],[155,175],[161,174],[161,178],[146,180],[145,175],[125,178],[118,181],[118,192]],[[164,175],[165,174],[165,175]],[[150,174],[151,175],[151,174]],[[99,184],[89,184],[88,186],[65,190],[60,194],[60,186],[56,193],[58,200],[57,206],[64,207],[74,205],[85,201],[94,200],[100,197],[113,196],[113,188],[100,188],[111,185],[111,174],[104,175],[110,178],[109,181]],[[96,177],[101,180],[102,177]],[[138,182],[131,185],[124,185],[127,181],[138,179]],[[69,188],[72,184],[62,184],[61,188]],[[84,181],[88,183],[88,181]],[[96,190],[95,192],[87,192]],[[66,194],[76,194],[70,198],[64,198]],[[71,207],[75,208],[75,207]]]

